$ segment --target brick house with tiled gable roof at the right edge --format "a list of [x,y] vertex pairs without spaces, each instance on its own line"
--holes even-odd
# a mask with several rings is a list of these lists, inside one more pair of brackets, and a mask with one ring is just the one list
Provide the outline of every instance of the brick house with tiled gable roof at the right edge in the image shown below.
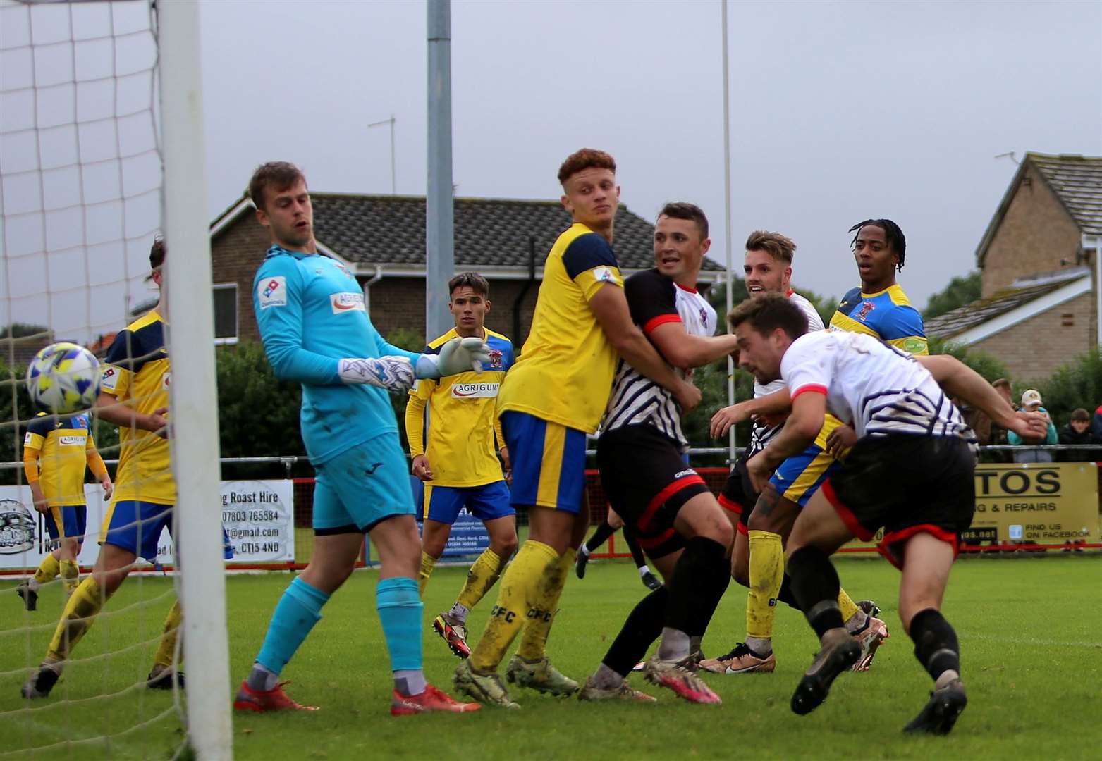
[[975,251],[981,297],[927,335],[985,351],[1016,381],[1099,345],[1102,157],[1027,153]]

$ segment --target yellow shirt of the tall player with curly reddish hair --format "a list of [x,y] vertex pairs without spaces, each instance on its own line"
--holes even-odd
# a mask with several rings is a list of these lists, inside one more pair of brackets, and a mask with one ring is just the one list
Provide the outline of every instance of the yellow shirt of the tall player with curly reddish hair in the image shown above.
[[612,246],[575,222],[543,263],[532,329],[501,382],[499,415],[526,412],[585,433],[597,430],[617,360],[590,311],[590,298],[606,283],[624,287]]

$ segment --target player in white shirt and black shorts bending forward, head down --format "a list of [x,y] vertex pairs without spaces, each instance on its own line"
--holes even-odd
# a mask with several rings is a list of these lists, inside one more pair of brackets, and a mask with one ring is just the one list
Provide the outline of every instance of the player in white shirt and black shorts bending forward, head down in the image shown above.
[[1022,436],[1042,434],[1045,418],[1015,413],[952,357],[914,357],[863,334],[808,333],[807,319],[780,295],[743,303],[728,323],[739,367],[761,382],[782,379],[791,398],[784,430],[746,464],[756,487],[814,439],[828,412],[857,435],[796,519],[786,547],[792,590],[821,644],[792,695],[792,710],[819,706],[834,678],[861,657],[861,644],[843,626],[830,555],[883,528],[879,551],[903,572],[899,618],[934,682],[905,730],[948,733],[968,697],[957,633],[940,609],[960,532],[972,521],[976,461],[975,436],[949,394]]

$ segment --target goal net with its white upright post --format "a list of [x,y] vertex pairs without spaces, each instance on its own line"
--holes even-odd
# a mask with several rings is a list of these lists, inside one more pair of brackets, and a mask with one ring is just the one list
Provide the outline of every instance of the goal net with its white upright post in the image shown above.
[[[197,8],[160,6],[0,0],[0,758],[230,752]],[[126,377],[129,423],[36,416],[25,368],[60,340]],[[165,442],[139,416],[169,398]],[[105,519],[138,556],[114,593],[121,573],[91,573]],[[48,695],[24,697],[58,652]]]

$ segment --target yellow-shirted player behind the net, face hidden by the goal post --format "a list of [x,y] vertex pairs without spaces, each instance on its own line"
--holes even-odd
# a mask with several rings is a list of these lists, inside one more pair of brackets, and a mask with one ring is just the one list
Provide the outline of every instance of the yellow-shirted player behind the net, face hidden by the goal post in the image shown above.
[[[100,609],[126,580],[139,556],[156,559],[164,529],[172,529],[176,483],[168,441],[169,385],[172,366],[165,340],[168,301],[164,297],[164,241],[150,248],[150,279],[161,290],[158,305],[120,331],[107,350],[102,390],[96,416],[119,426],[119,465],[115,493],[99,533],[99,556],[91,575],[69,597],[50,642],[46,657],[23,685],[26,698],[46,697],[62,667]],[[177,600],[164,621],[147,686],[171,689],[183,684],[173,668],[181,624]]]

